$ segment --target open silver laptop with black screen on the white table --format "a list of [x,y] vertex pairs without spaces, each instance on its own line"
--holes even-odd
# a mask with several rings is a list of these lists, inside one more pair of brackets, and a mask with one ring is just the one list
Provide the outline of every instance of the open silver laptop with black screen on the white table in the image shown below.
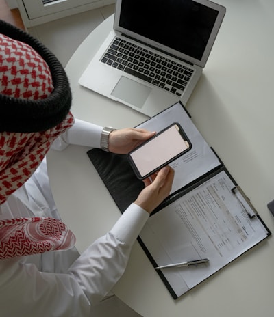
[[186,105],[224,16],[208,0],[116,0],[114,27],[79,84],[150,117]]

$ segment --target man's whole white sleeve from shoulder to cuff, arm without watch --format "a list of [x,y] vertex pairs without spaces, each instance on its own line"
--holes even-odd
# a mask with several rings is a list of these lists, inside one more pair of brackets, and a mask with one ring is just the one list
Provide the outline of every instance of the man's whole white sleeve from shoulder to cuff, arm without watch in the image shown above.
[[119,280],[149,214],[132,204],[66,273],[40,272],[22,258],[0,261],[1,316],[90,316]]

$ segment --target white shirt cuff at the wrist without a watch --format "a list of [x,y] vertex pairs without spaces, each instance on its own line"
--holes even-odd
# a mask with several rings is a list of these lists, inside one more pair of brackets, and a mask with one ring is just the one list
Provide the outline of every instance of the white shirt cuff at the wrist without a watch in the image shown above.
[[149,219],[149,213],[140,206],[132,203],[127,210],[123,212],[110,232],[122,242],[132,246],[147,222],[147,219]]

